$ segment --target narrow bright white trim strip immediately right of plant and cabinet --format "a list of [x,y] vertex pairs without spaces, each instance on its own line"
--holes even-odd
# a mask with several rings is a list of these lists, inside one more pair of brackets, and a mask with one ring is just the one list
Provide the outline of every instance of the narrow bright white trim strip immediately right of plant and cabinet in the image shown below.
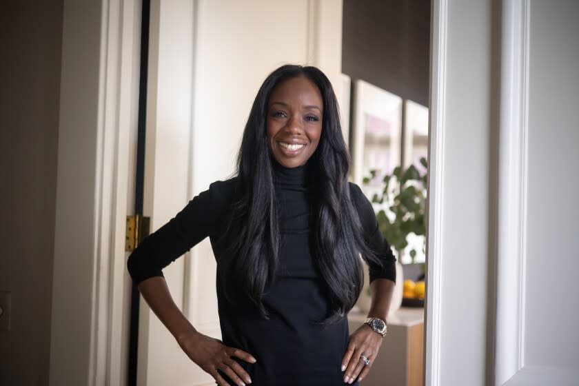
[[[427,259],[425,298],[425,385],[440,385],[440,322],[443,267],[443,170],[447,71],[447,0],[432,1],[431,89],[429,117],[429,168]],[[433,186],[434,182],[434,186]]]

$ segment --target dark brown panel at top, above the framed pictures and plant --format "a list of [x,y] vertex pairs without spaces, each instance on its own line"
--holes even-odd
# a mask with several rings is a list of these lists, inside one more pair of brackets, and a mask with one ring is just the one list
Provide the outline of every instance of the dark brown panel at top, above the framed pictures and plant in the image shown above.
[[430,0],[344,0],[342,71],[428,106]]

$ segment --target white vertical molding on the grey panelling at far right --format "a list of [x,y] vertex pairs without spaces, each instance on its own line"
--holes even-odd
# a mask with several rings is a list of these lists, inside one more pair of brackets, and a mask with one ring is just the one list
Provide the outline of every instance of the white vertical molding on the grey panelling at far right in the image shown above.
[[518,385],[507,381],[524,366],[529,1],[502,2],[501,41],[495,384]]

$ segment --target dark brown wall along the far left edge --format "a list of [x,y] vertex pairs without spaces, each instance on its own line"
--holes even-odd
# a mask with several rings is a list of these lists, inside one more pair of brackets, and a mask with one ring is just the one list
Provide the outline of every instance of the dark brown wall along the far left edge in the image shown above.
[[0,384],[45,385],[50,363],[63,1],[0,7]]

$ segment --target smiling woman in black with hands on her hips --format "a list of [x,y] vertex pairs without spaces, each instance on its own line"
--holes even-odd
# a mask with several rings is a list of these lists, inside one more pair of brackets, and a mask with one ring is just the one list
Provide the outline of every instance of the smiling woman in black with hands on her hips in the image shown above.
[[[237,173],[216,181],[129,257],[139,291],[185,354],[218,385],[343,385],[365,377],[383,340],[396,281],[372,204],[348,183],[332,85],[283,65],[258,91]],[[161,268],[206,236],[217,261],[223,341],[176,307]],[[369,265],[370,320],[347,312]]]

